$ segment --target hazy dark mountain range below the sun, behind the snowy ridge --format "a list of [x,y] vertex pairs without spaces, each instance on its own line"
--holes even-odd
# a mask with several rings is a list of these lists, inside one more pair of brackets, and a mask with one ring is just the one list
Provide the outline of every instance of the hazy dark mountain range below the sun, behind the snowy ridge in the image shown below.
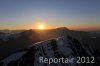
[[[57,28],[57,29],[50,29],[50,30],[21,30],[21,31],[12,31],[9,33],[0,32],[0,56],[7,56],[10,53],[24,49],[27,46],[52,39],[58,38],[62,36],[71,36],[75,39],[79,40],[83,44],[88,44],[93,48],[99,49],[100,42],[99,39],[95,42],[87,41],[91,37],[100,37],[100,34],[91,33],[91,32],[84,32],[84,31],[74,31],[69,30],[65,27]],[[96,39],[94,38],[94,39]],[[98,42],[98,43],[96,43]]]

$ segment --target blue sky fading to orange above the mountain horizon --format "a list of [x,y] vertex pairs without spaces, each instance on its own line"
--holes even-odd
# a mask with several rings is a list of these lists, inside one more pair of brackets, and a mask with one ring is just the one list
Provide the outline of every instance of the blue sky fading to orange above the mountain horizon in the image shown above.
[[100,0],[0,0],[0,29],[100,29]]

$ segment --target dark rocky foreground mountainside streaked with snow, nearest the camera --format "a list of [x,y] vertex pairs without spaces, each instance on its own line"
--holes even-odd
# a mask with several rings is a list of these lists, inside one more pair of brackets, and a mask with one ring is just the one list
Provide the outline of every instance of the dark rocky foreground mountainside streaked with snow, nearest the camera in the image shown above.
[[[3,58],[0,66],[100,66],[100,54],[78,40],[64,36],[35,43]],[[68,63],[41,63],[39,58],[74,58]],[[90,63],[77,63],[76,57],[94,57]],[[91,58],[92,59],[92,58]],[[47,60],[46,60],[47,61]]]

